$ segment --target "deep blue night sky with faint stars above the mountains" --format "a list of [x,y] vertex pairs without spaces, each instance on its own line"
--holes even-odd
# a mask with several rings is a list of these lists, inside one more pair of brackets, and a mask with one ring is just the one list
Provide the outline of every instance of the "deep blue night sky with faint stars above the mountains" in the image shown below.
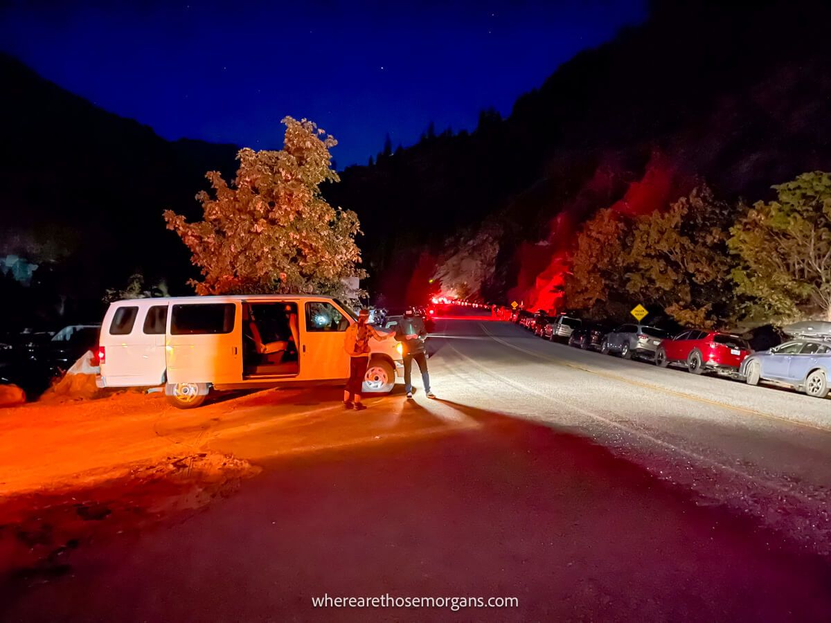
[[[106,110],[185,136],[280,145],[284,115],[340,141],[339,168],[389,133],[475,128],[576,52],[646,17],[645,0],[0,3],[0,46]],[[446,6],[445,6],[446,5]]]

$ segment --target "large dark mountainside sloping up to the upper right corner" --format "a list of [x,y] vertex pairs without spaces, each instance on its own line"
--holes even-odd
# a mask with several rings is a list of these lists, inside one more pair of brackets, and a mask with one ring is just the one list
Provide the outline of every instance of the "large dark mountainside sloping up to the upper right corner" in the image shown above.
[[[386,288],[408,282],[418,253],[402,249],[435,254],[445,236],[493,215],[510,256],[548,238],[563,210],[581,219],[621,199],[656,155],[673,191],[705,179],[725,199],[758,198],[831,167],[829,23],[824,2],[655,2],[641,27],[561,66],[508,119],[484,115],[470,135],[347,169],[332,198],[361,215]],[[609,192],[592,204],[585,191],[601,173]]]

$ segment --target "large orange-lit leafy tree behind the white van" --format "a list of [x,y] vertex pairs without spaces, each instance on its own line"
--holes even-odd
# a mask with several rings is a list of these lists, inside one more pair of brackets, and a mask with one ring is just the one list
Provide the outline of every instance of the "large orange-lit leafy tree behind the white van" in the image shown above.
[[229,186],[209,172],[213,193],[200,192],[203,220],[187,223],[165,211],[193,253],[203,280],[199,294],[316,292],[341,295],[345,280],[365,277],[356,213],[332,208],[320,185],[335,182],[329,150],[337,145],[308,120],[283,119],[283,150],[240,150],[239,169]]

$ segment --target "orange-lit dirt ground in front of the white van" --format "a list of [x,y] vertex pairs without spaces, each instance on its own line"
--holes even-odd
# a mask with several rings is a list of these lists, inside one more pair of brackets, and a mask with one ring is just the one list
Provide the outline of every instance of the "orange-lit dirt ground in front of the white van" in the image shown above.
[[179,410],[160,393],[52,393],[0,409],[0,576],[59,576],[76,547],[188,517],[275,452],[372,443],[361,432],[367,422],[393,434],[435,432],[401,419],[400,400],[344,414],[339,396],[337,388],[229,393]]

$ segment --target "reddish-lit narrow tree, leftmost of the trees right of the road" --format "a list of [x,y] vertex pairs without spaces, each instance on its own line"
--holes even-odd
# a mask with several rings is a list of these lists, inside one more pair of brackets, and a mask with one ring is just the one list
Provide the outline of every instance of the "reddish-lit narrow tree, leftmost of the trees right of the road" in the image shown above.
[[563,284],[563,302],[570,309],[606,307],[619,287],[624,218],[611,208],[598,210],[583,224],[571,258],[571,274]]

